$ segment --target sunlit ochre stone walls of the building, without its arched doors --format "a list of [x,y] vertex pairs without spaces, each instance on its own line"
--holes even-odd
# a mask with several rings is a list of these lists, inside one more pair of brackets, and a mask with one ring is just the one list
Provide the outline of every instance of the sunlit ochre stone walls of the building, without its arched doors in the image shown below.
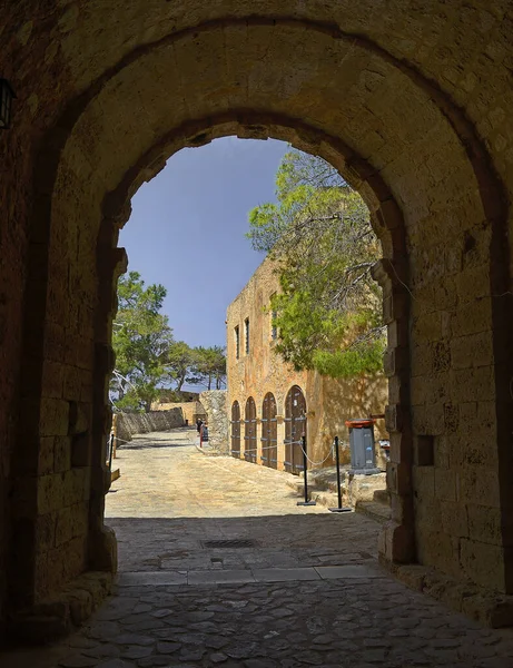
[[[257,458],[262,463],[262,418],[263,401],[272,392],[277,406],[278,469],[285,461],[285,401],[294,386],[302,389],[307,410],[307,450],[312,462],[309,468],[327,466],[334,463],[331,451],[335,436],[339,438],[342,462],[349,460],[348,429],[345,421],[383,414],[386,404],[386,379],[383,375],[348,381],[323,377],[316,372],[296,372],[274,352],[272,314],[268,312],[270,295],[279,289],[278,276],[272,261],[265,259],[249,279],[246,287],[231,302],[227,310],[227,411],[230,416],[235,401],[240,406],[241,420],[249,396],[257,406]],[[249,321],[249,353],[246,353],[245,323]],[[235,331],[238,328],[238,357]],[[244,425],[241,439],[244,440]],[[379,454],[377,440],[386,438],[384,421],[375,424],[376,455]],[[240,449],[244,458],[244,442]]]

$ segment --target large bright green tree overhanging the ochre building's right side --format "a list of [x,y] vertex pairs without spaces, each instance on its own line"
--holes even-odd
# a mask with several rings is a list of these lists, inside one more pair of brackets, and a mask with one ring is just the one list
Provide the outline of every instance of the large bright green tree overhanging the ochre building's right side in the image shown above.
[[368,209],[331,165],[297,150],[285,155],[276,187],[278,203],[250,212],[247,235],[279,276],[269,306],[276,352],[334,377],[379,371],[382,299],[371,276],[379,247]]

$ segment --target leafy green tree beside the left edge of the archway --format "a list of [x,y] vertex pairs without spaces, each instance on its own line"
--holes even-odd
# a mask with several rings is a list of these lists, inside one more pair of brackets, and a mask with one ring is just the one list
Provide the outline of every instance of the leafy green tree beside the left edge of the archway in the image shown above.
[[162,285],[145,287],[137,272],[119,278],[112,332],[116,372],[110,386],[119,409],[147,412],[157,399],[172,343],[168,318],[159,313],[165,297]]

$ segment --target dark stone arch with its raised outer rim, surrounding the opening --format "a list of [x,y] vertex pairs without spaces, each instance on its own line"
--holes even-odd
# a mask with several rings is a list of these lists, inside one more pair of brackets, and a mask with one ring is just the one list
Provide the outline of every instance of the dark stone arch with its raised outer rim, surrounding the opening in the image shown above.
[[[38,409],[27,420],[23,436],[30,432],[33,439],[62,438],[72,449],[76,435],[68,433],[69,416],[78,409],[85,412],[89,471],[81,481],[87,488],[81,502],[89,529],[76,541],[83,548],[80,559],[70,559],[71,548],[59,550],[59,559],[69,568],[62,568],[55,581],[33,568],[37,559],[48,559],[45,546],[39,546],[38,554],[23,554],[22,570],[32,576],[17,596],[23,605],[39,600],[81,572],[86,562],[87,568],[115,567],[114,540],[102,523],[107,484],[100,443],[110,418],[106,379],[112,366],[114,285],[126,264],[122,249],[117,248],[118,232],[128,219],[131,194],[159,171],[169,155],[231,134],[276,137],[322,155],[362,193],[373,214],[384,249],[375,276],[384,289],[388,325],[385,367],[392,432],[393,515],[383,532],[382,554],[395,562],[417,558],[453,574],[463,569],[483,584],[492,577],[494,587],[504,590],[510,586],[502,536],[487,537],[483,543],[502,564],[490,576],[473,558],[482,541],[456,536],[447,520],[451,508],[455,509],[451,504],[460,502],[456,478],[463,480],[465,508],[473,508],[471,490],[481,472],[475,461],[486,466],[491,487],[501,490],[503,501],[511,501],[497,461],[486,460],[490,453],[485,452],[490,440],[499,438],[492,413],[495,384],[504,385],[505,376],[497,381],[490,353],[495,345],[493,322],[501,311],[491,294],[502,293],[502,288],[491,293],[491,286],[504,287],[504,278],[492,272],[489,249],[501,236],[503,212],[500,197],[497,209],[491,212],[490,193],[495,190],[485,190],[494,175],[487,174],[486,160],[476,168],[483,151],[468,149],[475,148],[475,137],[468,140],[467,126],[462,129],[447,112],[450,100],[431,96],[404,67],[366,45],[335,39],[329,30],[317,30],[315,39],[310,33],[299,38],[290,24],[276,30],[275,23],[225,28],[210,26],[199,37],[184,33],[172,40],[172,47],[165,40],[119,61],[70,107],[56,132],[49,131],[36,187],[39,206],[26,314],[24,345],[30,351],[26,365],[38,369],[38,382],[24,396],[23,407],[37,402]],[[227,37],[229,55],[223,71],[209,65],[225,62],[214,39],[216,30]],[[292,63],[280,48],[290,42],[303,47],[303,51],[294,49]],[[255,67],[247,67],[248,59]],[[317,62],[314,71],[310,63]],[[152,76],[145,77],[147,71]],[[159,89],[162,73],[169,80]],[[172,100],[169,89],[175,92]],[[121,109],[138,109],[138,114],[121,116]],[[57,148],[56,135],[61,137]],[[465,242],[470,237],[471,246]],[[49,286],[45,294],[38,287],[41,281]],[[476,285],[483,286],[477,305]],[[456,361],[470,345],[464,341],[467,336],[484,351],[477,370],[474,363]],[[52,363],[62,366],[67,379],[59,396],[51,387]],[[476,395],[481,414],[468,406]],[[477,444],[473,440],[470,456],[467,431],[477,430],[484,419],[486,433],[480,431]],[[66,433],[45,433],[45,420],[52,423],[49,431]],[[431,469],[422,463],[426,443],[434,450]],[[14,469],[21,471],[19,490],[28,479],[36,493],[48,484],[38,448],[23,462],[19,452],[13,454]],[[60,473],[68,479],[77,475],[71,469]],[[436,479],[448,481],[450,492],[436,490]],[[501,508],[495,500],[487,501],[497,519]],[[440,521],[424,522],[423,517]],[[32,537],[41,518],[32,522]],[[13,553],[19,551],[14,546]]]

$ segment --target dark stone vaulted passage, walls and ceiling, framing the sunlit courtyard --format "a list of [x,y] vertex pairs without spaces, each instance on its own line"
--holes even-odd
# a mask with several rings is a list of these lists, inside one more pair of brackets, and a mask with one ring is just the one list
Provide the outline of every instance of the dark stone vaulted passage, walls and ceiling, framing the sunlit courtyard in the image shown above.
[[2,630],[80,619],[116,571],[119,230],[172,154],[225,136],[289,141],[364,197],[388,327],[382,562],[473,582],[491,596],[455,605],[504,610],[512,22],[511,0],[3,2],[0,76],[17,98],[0,130]]

